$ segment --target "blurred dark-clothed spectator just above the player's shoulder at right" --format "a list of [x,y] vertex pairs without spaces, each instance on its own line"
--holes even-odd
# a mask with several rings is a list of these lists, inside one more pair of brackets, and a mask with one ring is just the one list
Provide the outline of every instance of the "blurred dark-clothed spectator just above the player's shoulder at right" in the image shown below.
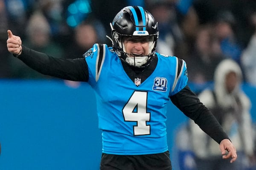
[[212,81],[215,68],[223,58],[211,24],[198,28],[193,47],[184,57],[188,63],[189,81],[198,85]]

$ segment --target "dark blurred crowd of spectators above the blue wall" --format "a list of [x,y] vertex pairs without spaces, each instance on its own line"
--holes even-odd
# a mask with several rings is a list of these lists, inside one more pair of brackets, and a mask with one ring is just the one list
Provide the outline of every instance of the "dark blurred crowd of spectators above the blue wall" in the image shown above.
[[82,57],[94,43],[111,41],[109,23],[128,5],[145,7],[158,21],[157,51],[187,62],[189,81],[213,80],[226,58],[239,63],[244,82],[256,85],[255,0],[0,0],[0,78],[52,78],[7,51],[7,29],[23,45],[54,57]]

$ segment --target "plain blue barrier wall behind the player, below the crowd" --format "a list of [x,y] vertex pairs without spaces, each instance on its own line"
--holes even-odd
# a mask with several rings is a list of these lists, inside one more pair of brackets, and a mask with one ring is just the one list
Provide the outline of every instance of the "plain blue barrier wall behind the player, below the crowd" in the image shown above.
[[[256,89],[243,88],[256,122]],[[171,102],[168,107],[172,151],[175,130],[187,118]],[[99,170],[102,137],[92,89],[62,80],[0,80],[0,142],[0,170]]]

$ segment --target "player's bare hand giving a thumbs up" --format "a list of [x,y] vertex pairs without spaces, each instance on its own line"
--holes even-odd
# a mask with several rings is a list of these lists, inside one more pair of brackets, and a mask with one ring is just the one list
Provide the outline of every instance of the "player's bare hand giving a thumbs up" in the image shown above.
[[12,54],[20,55],[22,52],[22,42],[20,37],[13,35],[11,30],[8,30],[7,33],[8,39],[6,42],[8,51]]

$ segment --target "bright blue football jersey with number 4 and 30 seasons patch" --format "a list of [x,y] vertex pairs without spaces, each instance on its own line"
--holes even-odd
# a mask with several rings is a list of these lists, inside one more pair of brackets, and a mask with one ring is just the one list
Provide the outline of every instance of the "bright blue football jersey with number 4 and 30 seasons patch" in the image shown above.
[[112,47],[95,44],[84,54],[88,83],[96,93],[103,153],[142,155],[168,150],[167,103],[186,86],[188,77],[183,60],[156,55],[155,70],[140,82],[139,77],[128,77]]

